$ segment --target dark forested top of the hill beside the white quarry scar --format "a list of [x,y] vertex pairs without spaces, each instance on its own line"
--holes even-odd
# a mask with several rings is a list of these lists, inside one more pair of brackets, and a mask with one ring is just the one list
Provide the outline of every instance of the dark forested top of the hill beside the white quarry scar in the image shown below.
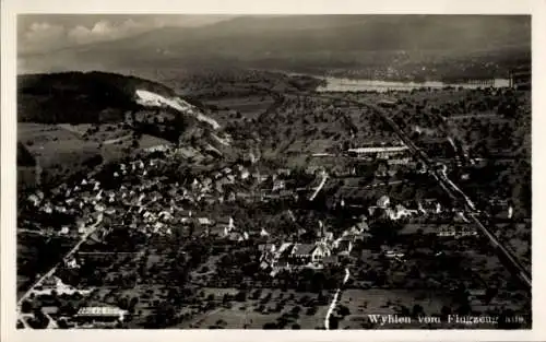
[[139,89],[174,95],[159,83],[106,72],[20,75],[17,119],[40,123],[122,121],[124,111],[140,108],[134,101]]

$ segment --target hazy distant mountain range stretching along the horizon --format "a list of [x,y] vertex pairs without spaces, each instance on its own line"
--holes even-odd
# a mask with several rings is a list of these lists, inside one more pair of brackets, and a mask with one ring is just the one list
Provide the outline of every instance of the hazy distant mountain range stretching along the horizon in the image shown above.
[[[21,55],[20,72],[191,68],[354,67],[476,54],[530,54],[530,16],[242,16],[202,27],[165,27],[123,39]],[[382,57],[378,59],[378,56]]]

